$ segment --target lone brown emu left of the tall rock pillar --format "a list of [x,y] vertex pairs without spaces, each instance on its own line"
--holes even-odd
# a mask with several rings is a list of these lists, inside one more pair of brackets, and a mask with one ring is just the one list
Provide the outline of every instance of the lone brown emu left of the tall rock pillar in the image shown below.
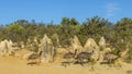
[[28,57],[28,60],[31,60],[31,62],[29,62],[28,64],[31,64],[31,65],[37,64],[38,62],[37,62],[37,61],[33,61],[33,60],[40,59],[41,55],[42,55],[42,52],[43,52],[43,51],[40,51],[38,54],[37,54],[37,53],[32,53],[31,55],[29,55],[29,57]]

